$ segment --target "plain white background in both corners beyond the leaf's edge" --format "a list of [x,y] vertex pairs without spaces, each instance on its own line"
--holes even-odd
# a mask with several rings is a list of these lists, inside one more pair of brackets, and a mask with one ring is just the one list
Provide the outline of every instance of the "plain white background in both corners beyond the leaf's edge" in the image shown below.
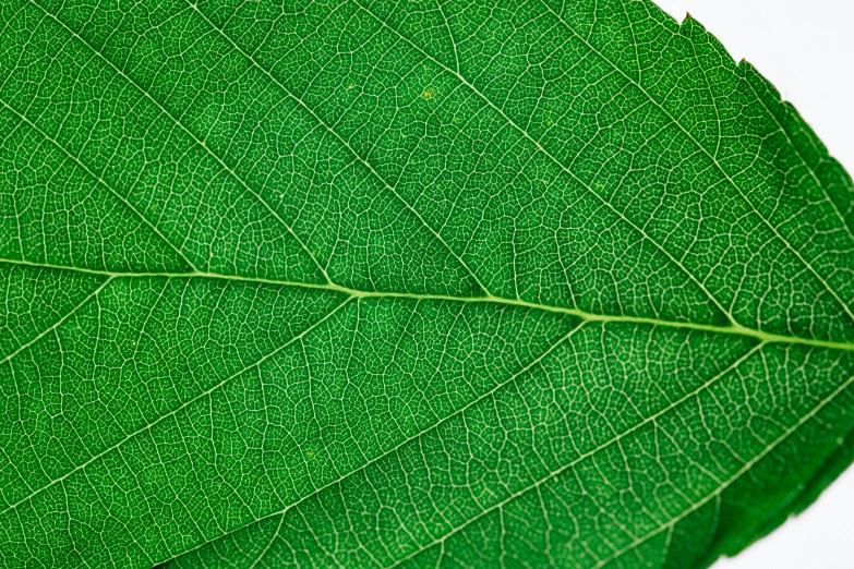
[[[654,0],[753,63],[854,172],[854,0]],[[809,509],[713,569],[854,569],[854,469]]]

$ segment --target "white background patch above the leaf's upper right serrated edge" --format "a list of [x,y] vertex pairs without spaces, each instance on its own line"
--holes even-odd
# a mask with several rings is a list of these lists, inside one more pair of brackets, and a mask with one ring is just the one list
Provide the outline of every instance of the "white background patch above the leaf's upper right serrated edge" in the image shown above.
[[653,1],[679,22],[690,12],[733,59],[753,63],[854,171],[854,1]]

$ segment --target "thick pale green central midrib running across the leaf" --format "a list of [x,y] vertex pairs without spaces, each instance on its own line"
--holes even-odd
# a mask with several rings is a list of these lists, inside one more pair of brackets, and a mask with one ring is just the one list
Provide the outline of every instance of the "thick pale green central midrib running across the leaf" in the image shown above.
[[803,344],[811,346],[816,348],[828,348],[832,350],[854,351],[854,342],[838,342],[833,340],[820,340],[815,338],[802,338],[798,336],[786,336],[780,334],[767,332],[755,328],[748,328],[741,324],[718,326],[713,324],[699,324],[691,322],[681,320],[666,320],[661,318],[653,318],[648,316],[632,316],[626,314],[598,314],[587,312],[581,308],[572,308],[566,306],[541,304],[537,302],[526,301],[522,299],[507,299],[503,296],[495,296],[493,294],[484,294],[482,296],[455,296],[453,294],[431,294],[431,293],[418,293],[418,292],[394,292],[394,291],[368,291],[358,290],[334,282],[329,283],[314,283],[314,282],[300,282],[289,280],[269,279],[263,277],[244,277],[240,275],[224,275],[219,273],[208,271],[191,271],[191,273],[116,273],[109,270],[89,269],[72,266],[50,265],[45,263],[32,263],[27,261],[15,259],[0,259],[0,263],[9,265],[19,265],[34,268],[56,269],[56,270],[71,270],[76,273],[85,273],[88,275],[98,275],[108,277],[111,279],[117,278],[175,278],[175,279],[193,279],[193,278],[207,278],[217,280],[229,280],[234,282],[248,282],[248,283],[262,283],[262,284],[275,284],[280,287],[293,287],[300,289],[311,290],[327,290],[330,292],[338,292],[347,294],[350,298],[357,299],[409,299],[414,301],[447,301],[447,302],[467,302],[479,304],[497,304],[505,306],[522,306],[526,308],[532,308],[544,312],[552,312],[558,314],[566,314],[575,316],[584,322],[601,322],[601,323],[623,323],[623,324],[646,324],[649,326],[662,326],[667,328],[682,328],[689,330],[700,330],[713,334],[726,334],[732,336],[745,336],[754,338],[762,343],[790,343],[790,344]]

